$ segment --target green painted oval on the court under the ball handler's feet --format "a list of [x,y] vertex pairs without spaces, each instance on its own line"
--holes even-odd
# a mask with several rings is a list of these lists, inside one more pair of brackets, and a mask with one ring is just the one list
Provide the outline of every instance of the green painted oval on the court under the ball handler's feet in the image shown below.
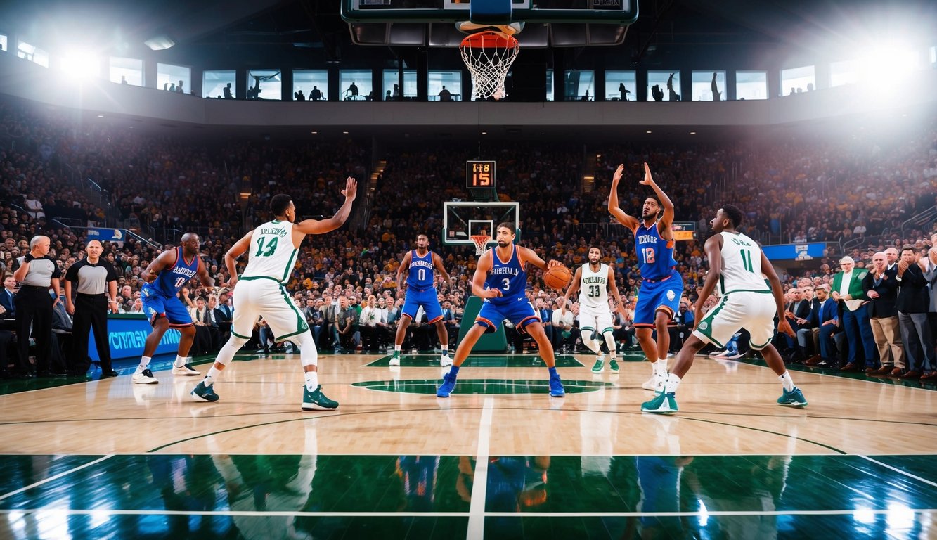
[[[404,392],[408,394],[436,394],[441,379],[409,379],[401,381],[363,381],[351,383],[369,390],[381,392]],[[614,388],[613,383],[598,381],[563,381],[567,394],[595,392],[602,388]],[[549,394],[546,377],[538,379],[459,379],[453,394]]]

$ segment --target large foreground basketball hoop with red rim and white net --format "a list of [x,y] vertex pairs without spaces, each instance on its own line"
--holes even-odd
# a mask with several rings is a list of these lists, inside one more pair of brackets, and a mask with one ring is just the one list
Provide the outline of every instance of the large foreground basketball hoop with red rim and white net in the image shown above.
[[504,98],[504,78],[520,50],[517,38],[503,32],[486,30],[462,39],[459,52],[471,73],[472,97]]

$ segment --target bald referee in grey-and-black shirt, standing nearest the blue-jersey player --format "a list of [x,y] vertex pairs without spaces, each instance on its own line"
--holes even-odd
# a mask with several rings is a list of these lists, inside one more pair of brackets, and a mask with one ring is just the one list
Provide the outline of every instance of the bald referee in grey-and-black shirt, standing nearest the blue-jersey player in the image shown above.
[[[88,331],[95,333],[97,357],[101,361],[101,379],[116,377],[111,364],[111,340],[108,339],[108,308],[117,313],[117,274],[111,263],[101,259],[101,243],[88,242],[88,256],[68,267],[65,274],[65,308],[75,316],[71,326],[73,339],[68,368],[74,375],[84,375],[91,363],[88,358]],[[78,289],[71,301],[72,284]],[[106,293],[106,295],[105,295]]]

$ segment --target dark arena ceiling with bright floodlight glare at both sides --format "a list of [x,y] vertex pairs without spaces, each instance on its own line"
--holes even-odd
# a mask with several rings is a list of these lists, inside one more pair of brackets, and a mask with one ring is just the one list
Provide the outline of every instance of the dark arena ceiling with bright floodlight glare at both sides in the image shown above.
[[[582,0],[580,0],[582,1]],[[653,65],[674,56],[829,52],[862,37],[937,35],[937,2],[926,0],[638,0],[640,16],[616,57]],[[194,66],[297,65],[394,59],[388,47],[352,45],[340,0],[32,0],[0,4],[0,29],[47,49],[91,42],[112,55],[146,52],[143,41],[168,36],[166,61]],[[898,33],[897,28],[914,27]],[[520,36],[523,46],[523,34]],[[40,45],[42,46],[42,45]],[[593,50],[596,48],[592,48]],[[593,51],[594,52],[594,51]]]

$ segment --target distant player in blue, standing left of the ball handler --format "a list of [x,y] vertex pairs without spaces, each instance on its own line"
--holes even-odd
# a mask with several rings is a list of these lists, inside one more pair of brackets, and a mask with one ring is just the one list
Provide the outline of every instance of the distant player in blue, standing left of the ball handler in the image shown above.
[[[423,307],[426,312],[426,321],[436,325],[436,335],[439,336],[439,347],[442,356],[439,358],[440,366],[452,366],[449,358],[449,331],[442,320],[442,308],[439,307],[439,297],[436,295],[436,278],[433,270],[438,270],[446,283],[450,281],[449,273],[442,266],[442,257],[429,250],[429,237],[417,234],[416,249],[411,249],[404,255],[404,260],[397,268],[397,284],[403,288],[407,285],[407,296],[401,312],[400,323],[397,324],[397,334],[394,336],[394,356],[391,357],[391,366],[400,365],[400,347],[407,336],[407,326],[416,317],[416,312]],[[404,273],[408,272],[404,281]]]

